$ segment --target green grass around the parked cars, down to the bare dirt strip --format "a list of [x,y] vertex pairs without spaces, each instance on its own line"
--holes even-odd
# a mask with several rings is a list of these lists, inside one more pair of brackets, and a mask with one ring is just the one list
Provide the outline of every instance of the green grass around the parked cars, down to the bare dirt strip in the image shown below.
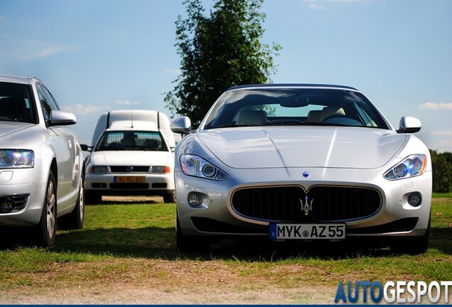
[[[26,244],[2,247],[0,289],[11,289],[12,285],[11,291],[20,293],[22,287],[36,287],[42,280],[55,288],[61,284],[102,284],[112,276],[114,280],[129,278],[136,268],[147,273],[134,276],[135,283],[143,283],[151,276],[163,284],[173,284],[174,272],[185,266],[203,267],[199,271],[191,268],[190,274],[200,276],[216,276],[215,270],[221,266],[222,270],[232,271],[237,280],[253,281],[236,286],[239,290],[260,289],[268,284],[289,289],[306,283],[337,286],[338,281],[347,280],[449,280],[452,198],[440,198],[432,204],[430,247],[421,255],[392,254],[385,248],[344,250],[332,245],[326,249],[313,246],[311,250],[235,241],[214,244],[210,252],[179,254],[174,228],[176,205],[90,205],[86,207],[84,229],[58,231],[53,248]],[[156,269],[160,266],[164,268]]]

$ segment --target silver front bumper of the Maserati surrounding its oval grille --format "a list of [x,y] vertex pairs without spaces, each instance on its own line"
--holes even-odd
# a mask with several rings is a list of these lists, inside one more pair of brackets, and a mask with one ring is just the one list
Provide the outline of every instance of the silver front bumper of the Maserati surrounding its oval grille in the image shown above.
[[[381,205],[375,214],[338,221],[345,222],[347,237],[419,237],[425,234],[429,224],[431,172],[400,181],[388,181],[383,178],[381,169],[267,168],[227,171],[230,178],[225,181],[195,178],[176,171],[178,219],[183,235],[268,236],[269,222],[281,221],[242,215],[232,207],[232,194],[241,188],[287,185],[299,186],[305,191],[315,186],[377,191]],[[303,178],[304,171],[311,173],[311,176]],[[201,195],[203,204],[190,206],[190,193]],[[411,193],[421,195],[421,205],[409,205],[407,198]]]

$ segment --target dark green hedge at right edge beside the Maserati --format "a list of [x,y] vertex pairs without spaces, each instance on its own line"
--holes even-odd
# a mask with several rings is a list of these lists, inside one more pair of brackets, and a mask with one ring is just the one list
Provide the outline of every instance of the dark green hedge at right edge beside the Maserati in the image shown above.
[[431,167],[433,170],[432,190],[436,193],[448,193],[452,188],[452,164],[448,154],[438,154],[430,150]]

